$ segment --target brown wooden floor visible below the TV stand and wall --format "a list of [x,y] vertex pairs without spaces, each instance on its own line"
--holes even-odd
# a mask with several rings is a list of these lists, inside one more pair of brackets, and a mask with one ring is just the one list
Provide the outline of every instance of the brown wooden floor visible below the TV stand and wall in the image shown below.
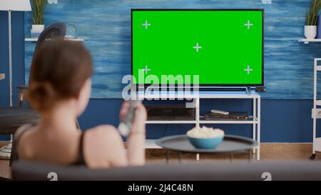
[[[4,144],[0,144],[0,147]],[[309,157],[312,152],[312,144],[261,144],[261,161],[291,161],[302,160],[310,161]],[[147,164],[166,164],[165,150],[163,149],[146,149]],[[234,160],[248,160],[248,154],[237,154],[233,156]],[[255,156],[253,156],[256,159]],[[200,155],[200,162],[208,161],[230,161],[227,155]],[[315,161],[321,161],[321,154],[317,155]],[[183,154],[181,163],[194,163],[195,154]],[[179,163],[178,155],[170,152],[170,164]],[[0,177],[10,178],[9,161],[0,160]]]

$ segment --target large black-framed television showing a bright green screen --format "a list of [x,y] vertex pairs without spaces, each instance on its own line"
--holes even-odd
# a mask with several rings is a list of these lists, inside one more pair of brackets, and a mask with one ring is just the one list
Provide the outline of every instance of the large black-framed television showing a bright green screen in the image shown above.
[[200,87],[264,86],[263,16],[263,9],[132,9],[133,84],[183,85],[185,76],[195,84],[197,75]]

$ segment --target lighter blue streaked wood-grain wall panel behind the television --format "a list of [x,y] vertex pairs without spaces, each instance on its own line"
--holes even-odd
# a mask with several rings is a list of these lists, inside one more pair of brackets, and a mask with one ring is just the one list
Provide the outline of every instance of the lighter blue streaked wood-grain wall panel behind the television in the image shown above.
[[[312,99],[313,59],[320,43],[303,44],[305,14],[310,0],[63,0],[46,7],[46,22],[74,23],[95,64],[93,91],[98,98],[121,98],[123,75],[131,67],[131,9],[265,9],[265,99]],[[25,35],[30,36],[31,14],[26,12]],[[169,21],[170,22],[170,21]],[[26,44],[26,80],[34,43]],[[320,80],[321,84],[321,80]],[[320,94],[321,95],[321,94]]]

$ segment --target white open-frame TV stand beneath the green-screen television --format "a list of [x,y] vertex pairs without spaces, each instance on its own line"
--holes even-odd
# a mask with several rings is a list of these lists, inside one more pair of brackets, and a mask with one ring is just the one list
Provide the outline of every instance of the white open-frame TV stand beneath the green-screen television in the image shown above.
[[[138,93],[139,99],[193,99],[195,106],[195,120],[193,121],[146,121],[146,124],[252,124],[253,139],[258,141],[258,146],[253,149],[253,153],[257,152],[257,159],[260,160],[260,105],[261,98],[257,93],[247,94],[245,92],[199,92],[198,94],[184,94],[183,92],[157,92],[157,93]],[[208,121],[200,119],[200,99],[252,99],[253,100],[253,116],[249,120],[227,120],[227,121]],[[161,100],[160,100],[161,101]],[[147,139],[146,149],[160,148],[155,144],[156,140]],[[256,151],[255,151],[256,150]]]

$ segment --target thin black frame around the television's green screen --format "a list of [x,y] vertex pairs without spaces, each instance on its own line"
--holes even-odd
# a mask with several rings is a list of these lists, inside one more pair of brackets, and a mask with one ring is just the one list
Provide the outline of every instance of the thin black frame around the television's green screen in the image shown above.
[[[131,9],[131,75],[133,75],[133,11],[261,11],[262,12],[262,80],[261,84],[199,84],[202,87],[260,87],[264,88],[264,9]],[[151,84],[136,84],[136,86],[150,86]],[[159,84],[162,85],[162,84]],[[165,85],[165,84],[164,84]],[[167,86],[174,84],[166,84]],[[175,84],[184,86],[184,84]]]

